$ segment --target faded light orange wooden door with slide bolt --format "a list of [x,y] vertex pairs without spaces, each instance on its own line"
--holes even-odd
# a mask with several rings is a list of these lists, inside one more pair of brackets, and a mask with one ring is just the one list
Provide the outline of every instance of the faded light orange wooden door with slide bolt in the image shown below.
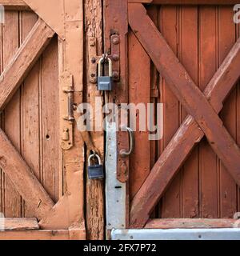
[[84,239],[82,140],[67,107],[70,93],[82,102],[82,2],[0,4],[0,239]]

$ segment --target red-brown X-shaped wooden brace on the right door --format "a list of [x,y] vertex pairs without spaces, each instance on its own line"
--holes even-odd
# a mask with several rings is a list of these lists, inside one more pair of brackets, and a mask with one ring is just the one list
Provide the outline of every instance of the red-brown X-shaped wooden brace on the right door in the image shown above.
[[204,135],[235,182],[240,185],[240,150],[218,117],[222,102],[239,78],[240,41],[235,44],[202,93],[148,17],[142,4],[129,4],[129,23],[170,89],[190,114],[132,202],[131,226],[141,228],[145,226],[151,211],[190,150]]

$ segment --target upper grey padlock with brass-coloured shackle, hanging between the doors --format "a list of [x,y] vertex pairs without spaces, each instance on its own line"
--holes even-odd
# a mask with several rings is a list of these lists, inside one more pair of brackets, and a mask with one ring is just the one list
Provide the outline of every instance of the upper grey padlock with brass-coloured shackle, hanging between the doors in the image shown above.
[[113,90],[113,64],[110,58],[106,58],[109,66],[108,76],[102,76],[102,63],[105,58],[102,57],[98,62],[98,90]]

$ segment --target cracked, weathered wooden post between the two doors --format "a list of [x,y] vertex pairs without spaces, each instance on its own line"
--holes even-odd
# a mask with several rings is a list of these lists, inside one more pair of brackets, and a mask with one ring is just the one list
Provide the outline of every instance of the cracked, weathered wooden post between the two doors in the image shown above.
[[[90,37],[96,38],[96,47],[98,56],[102,55],[102,1],[88,0],[85,2],[85,18],[86,18],[86,48],[89,49]],[[89,62],[88,54],[86,53],[86,62]],[[90,63],[89,63],[90,65]],[[86,74],[89,74],[88,68]],[[95,84],[90,83],[90,78],[86,78],[86,102],[89,102],[94,107],[94,113],[98,117],[102,114],[101,108],[95,105],[95,97],[99,97],[100,105],[103,105],[101,93],[97,90]],[[95,122],[96,116],[90,117]],[[104,134],[103,132],[91,132],[90,138],[97,148],[101,158],[104,158]],[[90,148],[86,145],[86,156],[90,154]],[[86,178],[86,234],[90,240],[104,239],[104,182],[102,180],[89,180]]]

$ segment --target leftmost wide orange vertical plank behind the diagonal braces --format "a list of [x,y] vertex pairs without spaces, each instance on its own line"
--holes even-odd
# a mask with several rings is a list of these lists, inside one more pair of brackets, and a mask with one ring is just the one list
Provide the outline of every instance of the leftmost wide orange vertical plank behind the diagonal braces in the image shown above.
[[[10,62],[18,50],[18,11],[6,11],[5,24],[3,25],[3,67]],[[4,130],[14,146],[21,150],[21,124],[20,124],[20,90],[10,100],[5,108]],[[10,179],[4,174],[4,213],[6,217],[22,216],[22,199]]]

